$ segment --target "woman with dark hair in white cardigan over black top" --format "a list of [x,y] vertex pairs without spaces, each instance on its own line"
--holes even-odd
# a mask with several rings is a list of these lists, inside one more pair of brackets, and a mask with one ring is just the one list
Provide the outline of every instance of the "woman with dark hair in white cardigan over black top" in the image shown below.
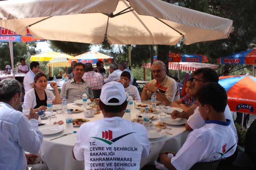
[[61,104],[60,93],[58,91],[57,83],[52,82],[50,85],[54,89],[55,95],[52,91],[46,90],[47,77],[44,73],[37,73],[34,78],[35,88],[28,90],[25,93],[24,104],[27,107],[34,108],[34,111],[46,110],[47,97],[50,96],[53,104]]

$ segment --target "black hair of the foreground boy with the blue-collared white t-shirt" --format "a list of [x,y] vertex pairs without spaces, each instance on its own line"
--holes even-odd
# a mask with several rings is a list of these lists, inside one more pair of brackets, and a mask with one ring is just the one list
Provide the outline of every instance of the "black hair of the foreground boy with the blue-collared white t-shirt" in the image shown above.
[[202,86],[197,90],[196,98],[202,106],[208,104],[218,113],[225,111],[228,102],[227,92],[216,82]]

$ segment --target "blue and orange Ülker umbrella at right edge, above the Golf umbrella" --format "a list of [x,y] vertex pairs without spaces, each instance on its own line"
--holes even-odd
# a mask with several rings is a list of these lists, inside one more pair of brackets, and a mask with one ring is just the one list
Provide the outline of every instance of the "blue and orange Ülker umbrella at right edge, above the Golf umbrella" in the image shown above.
[[219,64],[256,64],[256,48],[220,57]]

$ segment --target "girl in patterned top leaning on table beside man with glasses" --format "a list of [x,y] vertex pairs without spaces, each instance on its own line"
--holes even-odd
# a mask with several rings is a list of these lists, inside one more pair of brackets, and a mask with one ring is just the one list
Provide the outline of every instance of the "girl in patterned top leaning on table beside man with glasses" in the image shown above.
[[192,85],[194,78],[190,78],[186,83],[186,95],[181,99],[175,100],[171,103],[171,107],[182,108],[184,112],[194,112],[197,107],[195,97],[195,86]]

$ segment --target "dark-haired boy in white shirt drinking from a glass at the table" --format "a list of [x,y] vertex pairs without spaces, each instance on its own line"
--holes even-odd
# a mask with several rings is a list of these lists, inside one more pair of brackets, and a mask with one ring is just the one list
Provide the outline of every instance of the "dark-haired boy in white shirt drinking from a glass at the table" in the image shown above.
[[126,90],[127,93],[131,92],[132,100],[140,101],[140,93],[138,88],[129,84],[131,82],[131,74],[128,71],[122,72],[118,82],[124,85],[124,90]]

